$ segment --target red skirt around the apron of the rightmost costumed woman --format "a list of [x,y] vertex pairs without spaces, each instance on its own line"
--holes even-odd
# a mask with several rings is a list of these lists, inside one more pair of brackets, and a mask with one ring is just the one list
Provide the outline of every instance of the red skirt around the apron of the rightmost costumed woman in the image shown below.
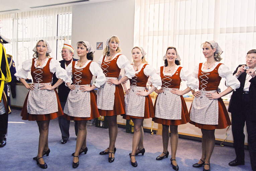
[[[224,129],[231,125],[229,114],[227,111],[227,108],[222,100],[222,98],[218,99],[219,104],[219,119],[218,119],[218,125],[206,125],[206,124],[198,124],[196,122],[190,121],[189,123],[205,130],[215,130],[215,129]],[[191,110],[191,107],[190,107]],[[189,113],[190,113],[189,110]]]

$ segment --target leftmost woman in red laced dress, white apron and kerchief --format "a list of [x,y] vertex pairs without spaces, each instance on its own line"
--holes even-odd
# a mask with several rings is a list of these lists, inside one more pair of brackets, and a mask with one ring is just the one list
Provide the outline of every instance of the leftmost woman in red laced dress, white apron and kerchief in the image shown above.
[[[59,96],[55,90],[63,81],[72,83],[67,72],[60,66],[60,62],[51,58],[52,49],[44,40],[36,43],[33,51],[33,59],[28,59],[22,63],[22,68],[15,73],[20,82],[29,90],[25,99],[21,116],[23,120],[36,121],[39,129],[39,144],[37,156],[33,159],[40,168],[46,169],[47,164],[42,156],[48,156],[50,149],[48,146],[48,132],[50,120],[63,115]],[[31,71],[33,83],[29,85],[27,79],[28,72]],[[51,85],[53,73],[59,80]]]

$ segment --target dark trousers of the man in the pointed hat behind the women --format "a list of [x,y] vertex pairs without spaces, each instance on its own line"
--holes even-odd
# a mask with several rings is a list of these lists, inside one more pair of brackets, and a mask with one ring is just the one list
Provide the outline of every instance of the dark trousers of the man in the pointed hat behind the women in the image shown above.
[[[61,108],[64,110],[66,102],[61,102]],[[59,121],[59,126],[61,130],[61,137],[63,140],[68,140],[69,139],[69,125],[70,121],[67,121],[67,119],[63,118],[62,116],[58,117]],[[78,132],[78,123],[75,121],[75,134],[77,136]]]

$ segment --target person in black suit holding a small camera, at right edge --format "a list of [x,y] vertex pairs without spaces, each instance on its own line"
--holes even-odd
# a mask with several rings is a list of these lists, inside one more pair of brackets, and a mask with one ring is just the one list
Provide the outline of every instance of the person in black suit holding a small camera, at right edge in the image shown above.
[[252,170],[256,171],[256,49],[249,50],[246,65],[239,65],[233,75],[240,88],[233,92],[228,111],[231,112],[232,134],[236,159],[230,166],[244,165],[244,125],[248,134],[248,147]]

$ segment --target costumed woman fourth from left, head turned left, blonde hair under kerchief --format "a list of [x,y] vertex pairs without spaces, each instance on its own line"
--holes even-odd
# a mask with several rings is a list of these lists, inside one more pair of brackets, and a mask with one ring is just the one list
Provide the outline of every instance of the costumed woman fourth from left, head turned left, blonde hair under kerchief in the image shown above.
[[[154,118],[154,107],[150,94],[162,85],[161,78],[156,74],[156,70],[147,64],[146,54],[142,47],[136,46],[132,49],[134,60],[132,66],[135,70],[135,76],[130,79],[129,89],[126,88],[126,83],[123,83],[126,93],[123,119],[132,120],[134,123],[133,150],[130,153],[131,164],[134,167],[138,166],[135,156],[140,153],[144,155],[145,153],[143,121],[144,119]],[[152,87],[147,91],[146,84],[149,76],[151,77]]]

